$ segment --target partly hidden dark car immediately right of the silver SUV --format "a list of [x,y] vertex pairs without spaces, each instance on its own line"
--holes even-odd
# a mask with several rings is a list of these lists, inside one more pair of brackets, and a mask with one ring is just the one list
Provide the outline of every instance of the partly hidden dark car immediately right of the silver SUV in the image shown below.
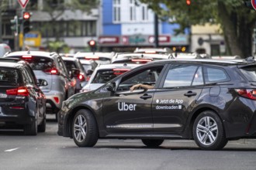
[[76,81],[75,93],[78,93],[81,90],[81,82],[87,80],[87,75],[85,74],[84,67],[81,66],[79,59],[73,57],[61,57],[64,60],[64,63],[67,67],[67,71],[70,74],[71,78],[74,78]]

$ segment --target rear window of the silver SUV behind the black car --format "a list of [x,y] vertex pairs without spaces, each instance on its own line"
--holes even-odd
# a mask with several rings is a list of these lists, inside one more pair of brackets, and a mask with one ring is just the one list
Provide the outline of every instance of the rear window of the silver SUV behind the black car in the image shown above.
[[43,56],[12,56],[12,58],[26,60],[33,70],[50,70],[56,68],[54,59]]

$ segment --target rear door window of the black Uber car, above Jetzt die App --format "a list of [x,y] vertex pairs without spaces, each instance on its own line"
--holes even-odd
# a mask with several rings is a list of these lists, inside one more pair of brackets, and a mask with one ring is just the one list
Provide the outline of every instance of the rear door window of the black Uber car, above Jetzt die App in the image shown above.
[[176,65],[171,66],[164,80],[164,87],[186,87],[191,86],[195,78],[198,66]]

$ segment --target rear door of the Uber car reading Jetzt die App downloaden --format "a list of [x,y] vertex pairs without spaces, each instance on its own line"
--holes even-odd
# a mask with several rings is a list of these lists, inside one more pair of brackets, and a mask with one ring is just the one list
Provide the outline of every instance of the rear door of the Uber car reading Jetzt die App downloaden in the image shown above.
[[152,113],[154,131],[181,132],[190,110],[202,91],[202,67],[189,64],[171,65],[154,93]]

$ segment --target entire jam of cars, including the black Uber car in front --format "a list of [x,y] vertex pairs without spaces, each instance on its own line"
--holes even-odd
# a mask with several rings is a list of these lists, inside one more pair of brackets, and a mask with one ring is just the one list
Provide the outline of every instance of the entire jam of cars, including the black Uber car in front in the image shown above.
[[[99,138],[138,138],[147,147],[193,139],[199,148],[218,150],[256,136],[252,57],[137,48],[68,56],[28,50],[0,58],[0,128],[36,135],[46,129],[46,114],[54,114],[57,134],[79,147]],[[14,80],[5,80],[6,73]]]

